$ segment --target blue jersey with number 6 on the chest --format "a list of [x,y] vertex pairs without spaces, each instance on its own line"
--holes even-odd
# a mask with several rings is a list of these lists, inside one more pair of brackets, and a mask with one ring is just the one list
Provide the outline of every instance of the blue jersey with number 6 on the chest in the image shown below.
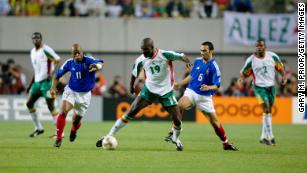
[[200,87],[203,84],[217,87],[221,85],[221,72],[214,58],[207,63],[204,63],[201,57],[196,58],[190,76],[192,80],[188,88],[200,95],[210,96],[215,93],[215,90],[201,91]]

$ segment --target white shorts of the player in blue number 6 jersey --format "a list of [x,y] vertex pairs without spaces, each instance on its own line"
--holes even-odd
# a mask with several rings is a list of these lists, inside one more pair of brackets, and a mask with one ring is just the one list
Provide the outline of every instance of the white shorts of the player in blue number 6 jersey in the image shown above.
[[201,111],[208,113],[215,112],[212,96],[199,95],[189,88],[184,91],[184,96],[188,97],[193,106],[196,105]]

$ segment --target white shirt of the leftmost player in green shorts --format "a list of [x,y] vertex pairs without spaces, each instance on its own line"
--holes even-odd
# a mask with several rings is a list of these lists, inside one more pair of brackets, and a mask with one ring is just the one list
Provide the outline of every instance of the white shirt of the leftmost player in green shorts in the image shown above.
[[54,70],[54,60],[60,60],[60,57],[52,48],[43,44],[41,48],[31,50],[31,62],[34,68],[34,81],[41,82],[47,79],[48,75]]

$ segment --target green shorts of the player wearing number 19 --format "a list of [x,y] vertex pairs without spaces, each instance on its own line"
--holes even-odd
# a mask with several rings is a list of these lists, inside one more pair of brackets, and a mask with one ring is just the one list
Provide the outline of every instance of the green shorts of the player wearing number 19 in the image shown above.
[[157,94],[154,94],[148,90],[146,85],[141,90],[140,94],[141,98],[149,101],[149,102],[155,102],[159,101],[163,107],[170,107],[170,106],[175,106],[177,105],[177,100],[174,95],[174,91],[171,91],[163,96],[159,96]]

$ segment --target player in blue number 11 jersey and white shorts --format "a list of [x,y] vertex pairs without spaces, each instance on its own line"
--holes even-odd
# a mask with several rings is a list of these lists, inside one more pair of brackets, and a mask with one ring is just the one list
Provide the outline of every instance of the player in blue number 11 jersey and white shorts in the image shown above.
[[54,147],[61,146],[65,119],[67,113],[72,109],[74,114],[69,140],[73,142],[76,139],[81,119],[90,104],[91,90],[95,85],[95,71],[100,70],[103,66],[102,60],[84,55],[79,44],[72,46],[72,56],[73,58],[68,59],[58,70],[52,82],[51,94],[55,95],[59,79],[67,72],[71,74],[69,84],[65,87],[62,96],[61,111],[56,122],[57,137]]

